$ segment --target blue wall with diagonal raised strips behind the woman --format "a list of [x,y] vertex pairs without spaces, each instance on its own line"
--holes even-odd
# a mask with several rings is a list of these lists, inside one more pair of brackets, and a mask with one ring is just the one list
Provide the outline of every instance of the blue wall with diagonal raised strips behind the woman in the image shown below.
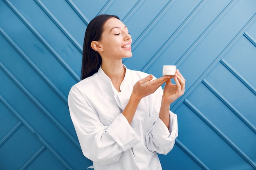
[[132,35],[124,64],[160,77],[175,64],[186,93],[164,170],[256,169],[255,0],[0,0],[0,170],[85,170],[68,107],[83,37],[96,15]]

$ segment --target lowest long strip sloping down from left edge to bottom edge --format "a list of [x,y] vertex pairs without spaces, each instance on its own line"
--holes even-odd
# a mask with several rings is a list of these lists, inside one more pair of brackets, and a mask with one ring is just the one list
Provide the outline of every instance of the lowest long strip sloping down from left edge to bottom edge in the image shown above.
[[47,141],[45,141],[45,139],[43,139],[43,137],[41,137],[38,132],[36,132],[36,130],[11,106],[11,104],[9,104],[4,97],[2,97],[2,95],[0,94],[0,101],[11,111],[11,113],[17,117],[17,119],[19,119],[22,124],[29,130],[29,132],[31,132],[51,153],[52,155],[54,155],[56,157],[56,159],[58,159],[58,161],[60,161],[66,168],[68,168],[69,170],[74,170],[66,161],[65,159],[63,159],[61,157],[61,155],[58,154],[58,152],[56,152],[54,150],[54,148],[52,148],[52,146],[50,146]]

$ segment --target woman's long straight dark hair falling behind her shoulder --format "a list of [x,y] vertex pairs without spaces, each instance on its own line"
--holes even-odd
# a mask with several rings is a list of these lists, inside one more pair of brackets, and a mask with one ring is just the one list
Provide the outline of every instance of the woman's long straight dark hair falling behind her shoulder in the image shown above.
[[101,66],[101,56],[91,47],[92,41],[99,41],[103,32],[103,25],[110,18],[117,18],[116,15],[98,15],[88,24],[83,41],[83,59],[81,69],[81,80],[97,73]]

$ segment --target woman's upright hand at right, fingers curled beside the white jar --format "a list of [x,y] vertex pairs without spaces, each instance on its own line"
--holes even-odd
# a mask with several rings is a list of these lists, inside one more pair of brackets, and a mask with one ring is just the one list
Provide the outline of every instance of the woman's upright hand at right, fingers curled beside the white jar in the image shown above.
[[174,80],[176,84],[172,84],[172,82],[169,79],[164,86],[162,102],[164,102],[165,104],[173,103],[185,92],[186,80],[184,79],[184,77],[182,76],[178,69],[176,71]]

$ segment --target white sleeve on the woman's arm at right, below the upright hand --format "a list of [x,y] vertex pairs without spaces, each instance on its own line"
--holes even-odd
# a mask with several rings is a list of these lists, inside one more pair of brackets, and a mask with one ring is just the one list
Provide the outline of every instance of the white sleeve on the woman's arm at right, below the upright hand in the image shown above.
[[[166,128],[164,122],[159,118],[159,110],[162,100],[162,87],[157,89],[155,99],[157,101],[154,104],[153,114],[150,121],[147,121],[147,126],[151,126],[146,134],[146,145],[151,152],[157,152],[159,154],[166,155],[173,149],[175,139],[178,136],[178,123],[177,115],[169,111],[170,125],[169,129]],[[150,118],[149,118],[150,119]]]

